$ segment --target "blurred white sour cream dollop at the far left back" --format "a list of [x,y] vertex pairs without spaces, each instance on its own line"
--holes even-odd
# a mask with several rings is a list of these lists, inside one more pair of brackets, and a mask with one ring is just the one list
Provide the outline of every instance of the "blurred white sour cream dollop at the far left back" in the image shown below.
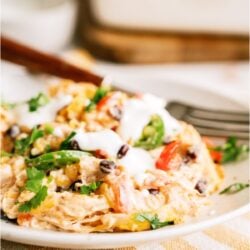
[[34,126],[53,122],[57,112],[72,100],[70,95],[60,95],[49,101],[45,106],[39,107],[36,111],[30,112],[28,104],[21,104],[14,109],[17,123],[19,125],[33,128]]

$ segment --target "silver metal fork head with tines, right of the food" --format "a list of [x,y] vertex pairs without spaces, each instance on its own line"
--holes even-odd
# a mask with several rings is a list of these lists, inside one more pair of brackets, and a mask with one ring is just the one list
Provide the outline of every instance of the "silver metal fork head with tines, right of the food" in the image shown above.
[[236,136],[249,140],[249,112],[205,109],[173,101],[167,110],[178,120],[186,121],[202,134],[214,137]]

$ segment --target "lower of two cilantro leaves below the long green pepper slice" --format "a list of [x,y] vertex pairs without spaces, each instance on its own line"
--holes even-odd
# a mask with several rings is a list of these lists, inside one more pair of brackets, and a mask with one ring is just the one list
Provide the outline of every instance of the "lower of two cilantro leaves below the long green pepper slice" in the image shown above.
[[29,212],[31,209],[37,208],[46,198],[48,194],[48,187],[43,186],[36,195],[29,201],[19,206],[19,212]]

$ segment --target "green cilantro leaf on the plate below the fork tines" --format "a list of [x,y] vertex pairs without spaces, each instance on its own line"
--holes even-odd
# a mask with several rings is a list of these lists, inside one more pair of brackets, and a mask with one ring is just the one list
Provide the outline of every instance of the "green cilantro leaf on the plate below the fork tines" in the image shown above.
[[237,145],[237,138],[232,136],[227,139],[224,145],[218,146],[214,150],[222,152],[221,163],[228,163],[245,158],[249,152],[249,147],[247,145]]

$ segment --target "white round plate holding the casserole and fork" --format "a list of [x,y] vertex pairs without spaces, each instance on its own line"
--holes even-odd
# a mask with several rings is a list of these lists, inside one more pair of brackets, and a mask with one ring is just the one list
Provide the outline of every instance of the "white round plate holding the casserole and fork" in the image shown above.
[[[6,100],[23,100],[28,98],[40,88],[42,84],[34,83],[31,79],[16,73],[14,76],[3,74],[2,92]],[[144,91],[151,91],[154,94],[165,97],[169,100],[181,100],[202,106],[228,109],[246,110],[241,104],[209,91],[199,88],[182,85],[179,83],[167,82],[162,80],[137,79],[138,86],[143,87]],[[8,84],[7,84],[8,83]],[[121,84],[123,85],[123,84]],[[124,86],[124,85],[123,85]],[[128,86],[128,85],[127,85]],[[133,82],[130,82],[130,89],[133,89]],[[227,165],[225,167],[225,181],[223,187],[239,181],[247,182],[249,177],[248,161]],[[98,233],[98,234],[79,234],[63,233],[54,231],[41,231],[16,226],[10,223],[1,222],[2,238],[32,245],[62,247],[62,248],[108,248],[138,245],[141,243],[166,240],[172,237],[185,235],[197,230],[222,223],[235,216],[239,216],[249,210],[249,193],[244,190],[235,195],[214,195],[213,205],[209,211],[197,217],[191,222],[161,228],[155,231],[136,232],[136,233]],[[215,213],[211,213],[214,211]]]

